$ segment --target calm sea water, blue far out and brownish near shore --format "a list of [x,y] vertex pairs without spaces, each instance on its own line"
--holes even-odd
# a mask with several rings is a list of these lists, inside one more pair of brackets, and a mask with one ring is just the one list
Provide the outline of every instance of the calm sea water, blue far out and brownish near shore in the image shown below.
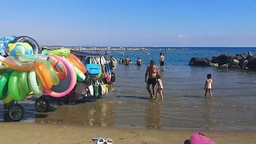
[[[114,91],[100,99],[69,105],[51,102],[51,110],[37,113],[34,101],[22,102],[26,110],[22,122],[68,123],[74,125],[114,126],[144,129],[256,130],[256,72],[189,66],[190,58],[211,58],[219,54],[243,54],[256,48],[187,47],[114,50],[109,55],[126,57],[130,66],[118,63],[114,70]],[[87,51],[86,51],[87,52]],[[121,53],[124,52],[124,55]],[[160,53],[166,58],[161,71],[164,101],[150,100],[144,82],[150,60],[160,67]],[[142,66],[136,66],[138,58]],[[204,98],[206,74],[212,74],[214,99]],[[0,111],[2,111],[0,105]],[[0,113],[0,120],[4,114]]]

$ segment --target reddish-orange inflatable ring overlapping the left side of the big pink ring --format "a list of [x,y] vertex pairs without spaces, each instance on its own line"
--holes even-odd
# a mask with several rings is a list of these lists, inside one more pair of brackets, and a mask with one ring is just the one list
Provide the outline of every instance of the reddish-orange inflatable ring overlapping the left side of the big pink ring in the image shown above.
[[66,78],[66,66],[61,62],[58,61],[57,58],[54,58],[53,56],[49,56],[48,60],[50,61],[51,65],[54,67],[55,72],[58,75],[58,78],[60,80],[63,80]]

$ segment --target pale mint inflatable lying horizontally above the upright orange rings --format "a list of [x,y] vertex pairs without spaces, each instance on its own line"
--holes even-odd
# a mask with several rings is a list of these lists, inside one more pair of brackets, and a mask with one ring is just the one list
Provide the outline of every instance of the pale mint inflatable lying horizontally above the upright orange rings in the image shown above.
[[20,62],[46,61],[47,56],[44,54],[24,54],[18,57]]

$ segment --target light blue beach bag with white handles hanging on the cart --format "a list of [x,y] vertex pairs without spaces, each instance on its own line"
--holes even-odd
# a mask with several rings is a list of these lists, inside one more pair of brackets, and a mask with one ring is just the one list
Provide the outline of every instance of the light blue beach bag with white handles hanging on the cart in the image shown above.
[[98,76],[98,74],[101,74],[101,67],[99,66],[99,64],[97,64],[95,58],[91,57],[90,58],[90,63],[86,63],[86,70],[87,70],[87,74],[89,76]]

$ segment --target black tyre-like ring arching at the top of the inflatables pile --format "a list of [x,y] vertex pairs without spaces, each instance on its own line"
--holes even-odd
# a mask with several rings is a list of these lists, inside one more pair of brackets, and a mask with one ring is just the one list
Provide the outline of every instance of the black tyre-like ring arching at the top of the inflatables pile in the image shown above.
[[33,38],[30,38],[30,37],[27,37],[27,36],[19,36],[19,37],[15,38],[12,43],[15,43],[15,42],[29,43],[30,46],[32,46],[32,48],[33,48],[34,54],[41,54],[41,52],[42,52],[39,45],[38,45],[38,42],[36,42]]

